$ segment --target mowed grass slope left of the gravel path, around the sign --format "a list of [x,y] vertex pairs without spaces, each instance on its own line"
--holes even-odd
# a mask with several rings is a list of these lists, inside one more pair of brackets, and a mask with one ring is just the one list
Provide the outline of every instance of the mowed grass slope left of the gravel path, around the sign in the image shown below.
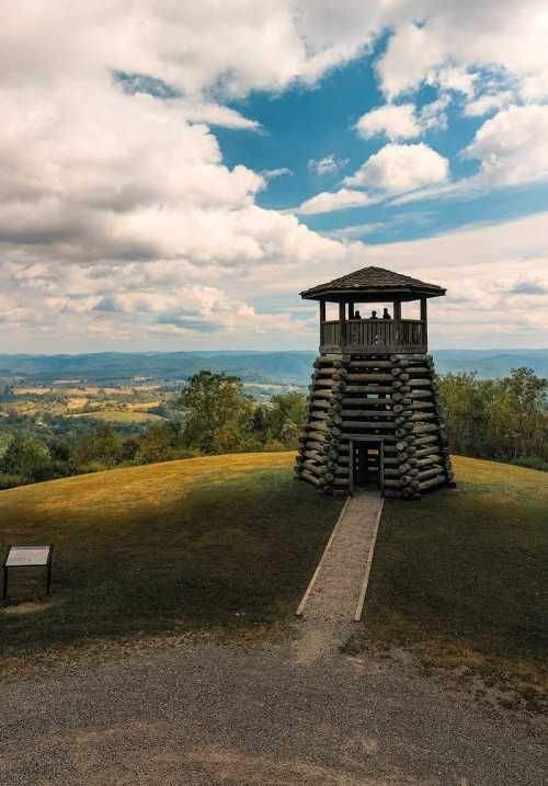
[[[2,546],[55,546],[50,605],[0,612],[4,651],[290,614],[342,505],[295,482],[293,463],[235,454],[0,492]],[[43,573],[23,572],[13,601],[43,593]]]

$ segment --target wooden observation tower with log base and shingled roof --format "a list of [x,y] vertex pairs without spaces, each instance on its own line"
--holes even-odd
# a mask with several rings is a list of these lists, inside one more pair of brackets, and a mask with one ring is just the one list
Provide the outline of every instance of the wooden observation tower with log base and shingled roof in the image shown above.
[[[300,293],[320,303],[320,354],[296,465],[300,479],[328,493],[378,487],[385,497],[412,499],[454,486],[427,354],[427,298],[441,295],[441,286],[381,267]],[[411,301],[419,318],[402,319],[402,304],[407,310]],[[327,319],[328,303],[338,304],[338,319]],[[367,312],[361,315],[362,304]],[[370,304],[380,309],[372,312]]]

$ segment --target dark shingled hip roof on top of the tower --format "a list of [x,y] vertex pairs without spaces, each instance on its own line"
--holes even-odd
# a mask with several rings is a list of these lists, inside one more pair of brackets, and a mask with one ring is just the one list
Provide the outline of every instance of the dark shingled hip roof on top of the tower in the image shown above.
[[426,284],[409,275],[393,273],[384,267],[362,267],[327,284],[318,284],[305,289],[300,296],[317,300],[322,297],[340,299],[344,295],[401,295],[403,299],[412,297],[437,297],[445,295],[445,289],[437,284]]

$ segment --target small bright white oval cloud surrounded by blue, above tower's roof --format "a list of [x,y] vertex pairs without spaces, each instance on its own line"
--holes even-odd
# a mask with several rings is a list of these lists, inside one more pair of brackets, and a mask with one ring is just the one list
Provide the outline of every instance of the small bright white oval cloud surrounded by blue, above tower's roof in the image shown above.
[[396,194],[444,182],[448,171],[447,159],[424,143],[390,144],[369,156],[355,174],[345,178],[344,183]]

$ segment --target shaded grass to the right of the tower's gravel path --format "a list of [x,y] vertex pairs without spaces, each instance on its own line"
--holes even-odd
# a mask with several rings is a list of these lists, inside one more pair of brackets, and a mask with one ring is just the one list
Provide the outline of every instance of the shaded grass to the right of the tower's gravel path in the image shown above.
[[548,477],[454,463],[457,491],[386,501],[364,623],[346,649],[412,647],[424,664],[546,690]]

